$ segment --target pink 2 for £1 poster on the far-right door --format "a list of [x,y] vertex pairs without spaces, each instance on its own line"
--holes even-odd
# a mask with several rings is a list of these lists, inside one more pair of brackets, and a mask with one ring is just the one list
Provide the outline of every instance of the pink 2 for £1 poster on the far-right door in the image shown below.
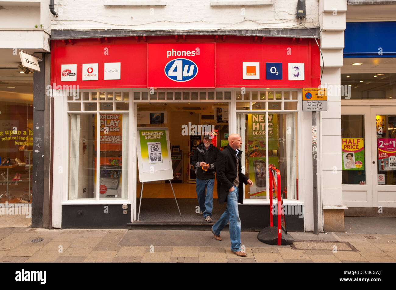
[[396,170],[396,139],[395,138],[378,138],[378,170],[390,171]]

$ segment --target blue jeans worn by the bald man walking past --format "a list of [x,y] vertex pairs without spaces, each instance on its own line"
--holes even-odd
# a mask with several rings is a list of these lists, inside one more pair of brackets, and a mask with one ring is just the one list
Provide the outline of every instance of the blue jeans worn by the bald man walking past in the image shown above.
[[213,233],[220,235],[228,220],[230,221],[231,250],[238,252],[241,250],[241,220],[238,212],[238,188],[236,186],[234,186],[234,191],[228,192],[227,208],[213,225]]

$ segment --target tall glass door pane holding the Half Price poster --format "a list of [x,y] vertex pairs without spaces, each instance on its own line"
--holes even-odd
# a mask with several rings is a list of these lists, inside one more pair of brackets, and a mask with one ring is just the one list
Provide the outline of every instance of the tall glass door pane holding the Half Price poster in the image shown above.
[[364,115],[342,115],[341,166],[343,184],[366,184],[365,141]]

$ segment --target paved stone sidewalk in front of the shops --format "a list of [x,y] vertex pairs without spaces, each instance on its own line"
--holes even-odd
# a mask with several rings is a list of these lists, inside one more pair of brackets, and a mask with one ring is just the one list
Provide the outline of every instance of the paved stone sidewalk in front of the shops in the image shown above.
[[0,262],[396,262],[396,218],[379,218],[389,226],[382,233],[378,222],[364,227],[353,219],[346,218],[347,233],[291,232],[292,246],[242,232],[246,258],[231,252],[227,231],[216,241],[210,231],[4,227]]

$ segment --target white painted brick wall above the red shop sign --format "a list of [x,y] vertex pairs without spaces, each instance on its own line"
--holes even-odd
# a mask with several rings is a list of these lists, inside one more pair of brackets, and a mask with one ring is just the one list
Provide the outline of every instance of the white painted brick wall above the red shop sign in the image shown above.
[[[139,1],[143,6],[105,6],[120,1],[55,0],[60,14],[52,29],[131,29],[131,30],[236,30],[264,28],[301,28],[295,18],[297,0],[257,1],[264,6],[211,6],[210,0]],[[134,1],[124,1],[131,4]],[[251,1],[248,1],[251,2]],[[307,27],[319,26],[318,0],[307,0]],[[345,23],[344,23],[345,25]],[[305,29],[305,28],[304,28]]]

